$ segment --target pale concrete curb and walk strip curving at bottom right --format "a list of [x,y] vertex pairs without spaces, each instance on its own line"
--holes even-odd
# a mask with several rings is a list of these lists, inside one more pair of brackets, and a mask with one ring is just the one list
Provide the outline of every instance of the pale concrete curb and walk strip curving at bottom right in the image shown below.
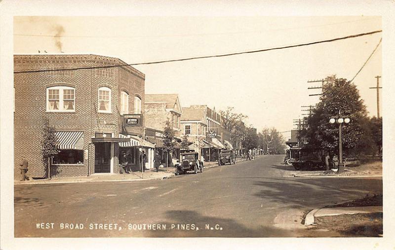
[[383,206],[320,208],[310,211],[305,216],[305,226],[313,225],[316,217],[335,216],[341,214],[373,214],[383,213]]

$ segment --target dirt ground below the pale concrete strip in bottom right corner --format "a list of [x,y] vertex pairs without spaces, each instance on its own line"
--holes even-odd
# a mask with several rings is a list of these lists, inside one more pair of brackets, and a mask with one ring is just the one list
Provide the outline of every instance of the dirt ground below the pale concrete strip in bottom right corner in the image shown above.
[[383,213],[316,217],[313,230],[336,231],[345,237],[382,237]]

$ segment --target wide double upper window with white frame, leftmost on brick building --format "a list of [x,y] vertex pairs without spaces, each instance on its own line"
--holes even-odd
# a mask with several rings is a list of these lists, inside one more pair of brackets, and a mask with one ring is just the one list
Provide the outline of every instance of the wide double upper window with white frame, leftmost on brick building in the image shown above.
[[76,89],[55,86],[46,89],[47,112],[75,112]]

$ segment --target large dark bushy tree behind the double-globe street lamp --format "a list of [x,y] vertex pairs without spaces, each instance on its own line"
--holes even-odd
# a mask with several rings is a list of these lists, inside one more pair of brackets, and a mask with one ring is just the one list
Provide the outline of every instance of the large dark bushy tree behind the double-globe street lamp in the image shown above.
[[329,123],[331,117],[340,114],[351,119],[349,124],[342,126],[345,153],[355,149],[369,133],[363,126],[367,112],[356,85],[335,75],[326,77],[325,82],[320,102],[313,108],[312,115],[307,119],[308,128],[301,131],[301,136],[306,137],[309,144],[324,147],[332,160],[338,154],[339,126]]

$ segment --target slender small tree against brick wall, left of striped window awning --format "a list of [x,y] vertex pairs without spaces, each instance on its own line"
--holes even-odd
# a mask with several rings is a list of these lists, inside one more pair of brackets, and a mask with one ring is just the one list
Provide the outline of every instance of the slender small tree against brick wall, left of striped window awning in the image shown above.
[[57,149],[58,140],[56,138],[56,130],[49,124],[47,118],[44,119],[44,125],[42,126],[42,139],[41,139],[41,155],[44,166],[46,165],[47,178],[51,179],[51,162],[55,155],[60,150]]

